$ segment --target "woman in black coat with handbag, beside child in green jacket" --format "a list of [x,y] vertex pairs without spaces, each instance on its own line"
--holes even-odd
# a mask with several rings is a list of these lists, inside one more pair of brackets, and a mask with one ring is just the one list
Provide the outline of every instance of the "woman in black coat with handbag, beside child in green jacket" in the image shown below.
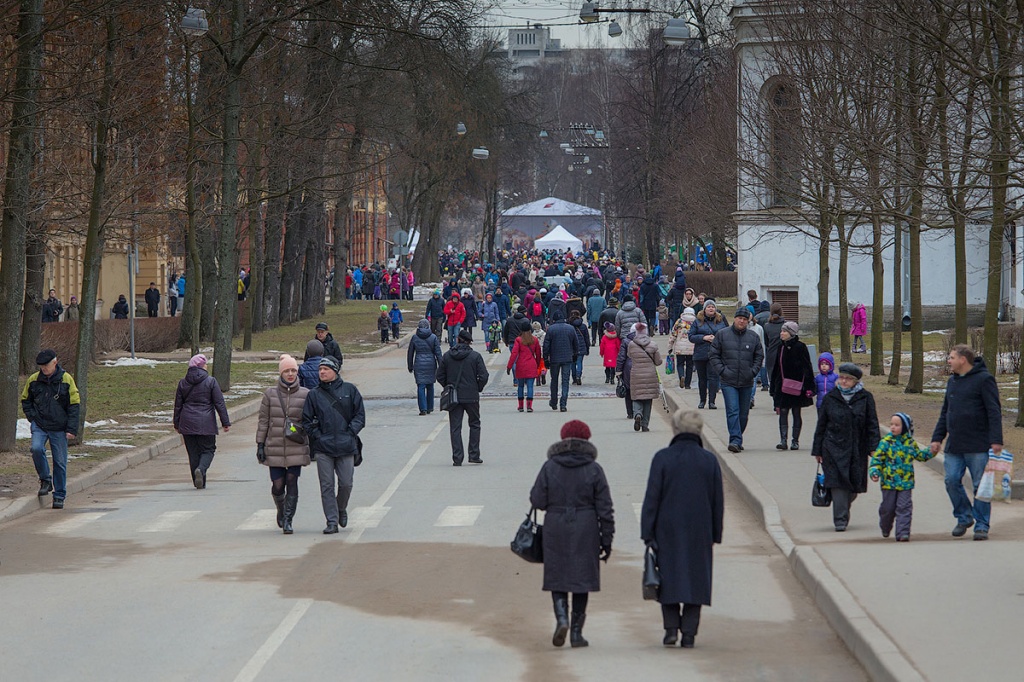
[[862,376],[856,365],[840,365],[836,388],[821,400],[811,447],[824,471],[824,485],[831,491],[837,532],[849,525],[857,494],[867,492],[867,460],[879,445],[874,396],[860,383]]

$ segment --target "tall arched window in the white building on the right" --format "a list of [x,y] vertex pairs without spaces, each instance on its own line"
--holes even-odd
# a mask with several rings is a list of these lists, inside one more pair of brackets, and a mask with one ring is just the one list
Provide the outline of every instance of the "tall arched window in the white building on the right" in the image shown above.
[[800,98],[793,85],[768,89],[768,205],[800,206]]

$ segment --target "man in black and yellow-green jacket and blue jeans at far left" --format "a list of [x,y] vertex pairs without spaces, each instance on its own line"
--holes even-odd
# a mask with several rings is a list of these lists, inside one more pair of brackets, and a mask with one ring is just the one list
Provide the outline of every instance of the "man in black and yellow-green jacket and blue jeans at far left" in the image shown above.
[[[39,497],[53,494],[53,509],[63,509],[68,497],[68,439],[78,434],[79,396],[75,379],[57,364],[49,348],[36,355],[39,371],[22,391],[22,410],[32,425],[32,463],[39,474]],[[46,461],[50,443],[53,475]]]

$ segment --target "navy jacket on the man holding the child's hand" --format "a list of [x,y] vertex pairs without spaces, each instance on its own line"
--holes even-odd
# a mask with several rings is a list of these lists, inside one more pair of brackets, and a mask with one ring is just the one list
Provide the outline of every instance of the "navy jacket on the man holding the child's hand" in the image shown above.
[[942,442],[947,434],[949,440],[943,450],[952,455],[987,453],[992,443],[1002,444],[999,389],[980,357],[975,358],[970,372],[963,377],[954,374],[946,382],[932,440]]

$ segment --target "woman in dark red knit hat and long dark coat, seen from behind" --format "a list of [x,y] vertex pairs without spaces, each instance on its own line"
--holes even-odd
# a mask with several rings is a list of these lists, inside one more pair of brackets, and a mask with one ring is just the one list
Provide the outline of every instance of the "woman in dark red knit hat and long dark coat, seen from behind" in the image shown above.
[[[566,422],[562,439],[548,449],[548,461],[537,475],[529,502],[544,515],[544,590],[555,607],[555,634],[551,643],[587,646],[583,625],[587,600],[601,589],[598,561],[611,556],[615,517],[604,469],[597,463],[597,447],[590,442],[590,427],[579,420]],[[568,593],[572,593],[569,628]]]

